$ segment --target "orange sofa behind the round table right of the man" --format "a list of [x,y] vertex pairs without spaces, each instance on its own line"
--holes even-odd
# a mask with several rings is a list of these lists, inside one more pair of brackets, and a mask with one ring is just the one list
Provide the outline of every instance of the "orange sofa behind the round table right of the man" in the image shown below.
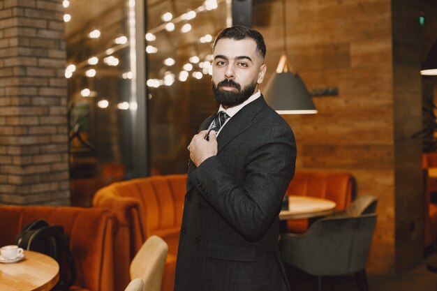
[[[336,203],[335,210],[349,206],[356,197],[356,183],[347,172],[296,172],[286,195],[325,198]],[[302,233],[308,228],[308,219],[287,221],[289,232]]]

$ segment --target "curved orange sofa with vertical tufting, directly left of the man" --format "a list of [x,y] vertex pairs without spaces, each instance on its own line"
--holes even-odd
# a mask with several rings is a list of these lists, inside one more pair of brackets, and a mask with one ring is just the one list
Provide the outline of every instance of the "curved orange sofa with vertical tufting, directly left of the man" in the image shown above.
[[145,240],[155,234],[168,244],[161,290],[173,290],[185,190],[186,174],[172,174],[117,182],[94,195],[94,207],[117,214],[115,271],[126,285],[131,260]]

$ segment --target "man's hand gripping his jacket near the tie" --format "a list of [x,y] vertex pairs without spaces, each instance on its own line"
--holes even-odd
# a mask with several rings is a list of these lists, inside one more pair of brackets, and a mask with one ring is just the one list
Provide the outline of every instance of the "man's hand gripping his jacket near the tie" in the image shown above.
[[197,135],[193,136],[188,149],[190,150],[190,158],[194,165],[198,167],[203,161],[217,154],[217,136],[214,130],[209,133],[209,141],[205,140],[208,130],[202,130]]

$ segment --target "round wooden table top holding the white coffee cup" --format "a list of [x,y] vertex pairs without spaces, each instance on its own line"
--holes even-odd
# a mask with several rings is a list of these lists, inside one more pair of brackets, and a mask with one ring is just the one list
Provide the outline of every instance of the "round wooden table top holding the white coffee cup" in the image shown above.
[[24,251],[19,262],[0,263],[1,291],[45,291],[59,280],[56,260],[34,251]]

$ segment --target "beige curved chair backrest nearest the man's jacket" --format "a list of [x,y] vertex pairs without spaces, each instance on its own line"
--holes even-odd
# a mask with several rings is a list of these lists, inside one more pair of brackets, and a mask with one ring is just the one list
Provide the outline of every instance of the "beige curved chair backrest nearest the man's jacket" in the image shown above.
[[144,291],[160,291],[168,246],[156,235],[149,237],[131,262],[132,278],[142,278]]

